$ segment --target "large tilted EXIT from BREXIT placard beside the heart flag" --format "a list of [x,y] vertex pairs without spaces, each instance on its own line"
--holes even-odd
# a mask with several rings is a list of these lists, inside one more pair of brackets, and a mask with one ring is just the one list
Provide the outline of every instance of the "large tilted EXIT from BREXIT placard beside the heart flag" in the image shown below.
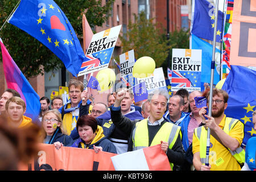
[[112,57],[115,43],[117,43],[121,26],[120,24],[93,35],[78,76],[109,67],[109,61]]

